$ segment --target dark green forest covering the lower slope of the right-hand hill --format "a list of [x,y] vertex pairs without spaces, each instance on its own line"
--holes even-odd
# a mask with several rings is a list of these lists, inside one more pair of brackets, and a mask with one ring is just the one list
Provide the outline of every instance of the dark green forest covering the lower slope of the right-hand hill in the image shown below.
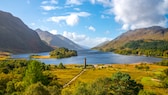
[[120,49],[113,50],[124,55],[146,55],[154,57],[168,57],[168,41],[162,40],[137,40],[125,44]]

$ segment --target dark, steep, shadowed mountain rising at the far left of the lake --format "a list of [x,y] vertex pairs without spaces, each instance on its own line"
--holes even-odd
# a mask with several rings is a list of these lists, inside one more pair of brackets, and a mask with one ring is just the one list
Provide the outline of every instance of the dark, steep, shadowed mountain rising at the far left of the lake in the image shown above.
[[52,50],[41,41],[38,34],[19,18],[0,11],[0,51],[32,53]]

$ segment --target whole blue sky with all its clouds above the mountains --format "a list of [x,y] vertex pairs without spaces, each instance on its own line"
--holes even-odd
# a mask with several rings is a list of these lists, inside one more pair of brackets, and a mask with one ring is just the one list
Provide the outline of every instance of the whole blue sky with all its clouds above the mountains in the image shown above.
[[0,0],[0,10],[28,27],[94,47],[122,33],[168,27],[168,0]]

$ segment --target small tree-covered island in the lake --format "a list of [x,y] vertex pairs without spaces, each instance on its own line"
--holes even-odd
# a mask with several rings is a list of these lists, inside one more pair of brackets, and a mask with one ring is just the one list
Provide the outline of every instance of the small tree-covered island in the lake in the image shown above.
[[72,56],[77,56],[77,51],[69,50],[67,48],[57,48],[50,52],[51,58],[60,59],[60,58],[67,58],[67,57],[72,57]]

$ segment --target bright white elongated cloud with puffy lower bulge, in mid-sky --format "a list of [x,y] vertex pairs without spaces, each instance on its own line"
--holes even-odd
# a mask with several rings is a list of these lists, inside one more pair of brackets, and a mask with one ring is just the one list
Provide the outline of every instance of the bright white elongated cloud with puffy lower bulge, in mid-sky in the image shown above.
[[79,22],[79,17],[88,17],[90,16],[87,12],[78,12],[78,13],[69,13],[66,16],[53,16],[48,18],[47,21],[52,21],[56,23],[60,23],[61,21],[65,21],[67,25],[74,26]]

